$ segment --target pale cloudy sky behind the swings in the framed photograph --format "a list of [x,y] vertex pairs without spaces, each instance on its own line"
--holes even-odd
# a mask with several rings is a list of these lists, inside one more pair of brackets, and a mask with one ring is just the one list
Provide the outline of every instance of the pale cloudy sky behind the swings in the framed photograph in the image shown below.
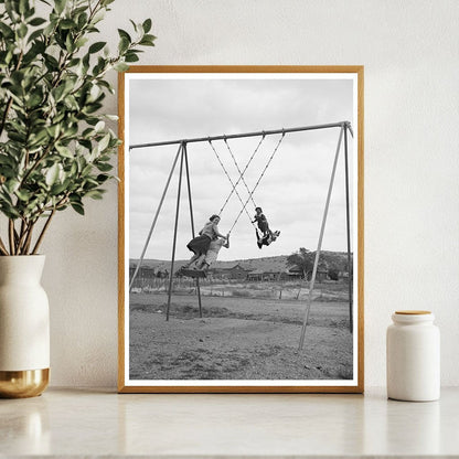
[[[129,74],[128,74],[129,75]],[[126,140],[128,145],[218,135],[295,128],[349,120],[355,127],[353,79],[303,78],[301,75],[271,75],[264,78],[238,75],[129,75],[126,93]],[[231,260],[289,255],[299,247],[316,249],[337,149],[339,128],[286,135],[254,193],[271,230],[281,232],[269,247],[258,249],[255,231],[245,212],[231,233],[230,249],[220,259]],[[243,170],[260,138],[228,140]],[[245,173],[252,190],[273,153],[279,136],[267,136]],[[224,141],[215,141],[233,182],[237,169]],[[138,258],[145,245],[178,146],[132,149],[129,161],[129,257]],[[350,139],[350,172],[353,180],[353,146]],[[341,150],[343,153],[343,149]],[[188,146],[193,211],[196,231],[213,213],[218,213],[232,185],[209,142]],[[164,200],[146,258],[170,259],[179,182],[179,164]],[[192,254],[185,247],[191,238],[190,212],[183,181],[177,259]],[[248,198],[241,181],[237,191]],[[352,192],[352,186],[351,186]],[[242,203],[234,193],[222,213],[220,231],[233,226]],[[252,202],[247,205],[255,214]],[[351,207],[351,212],[353,209]],[[345,250],[344,154],[341,154],[327,221],[322,248]]]

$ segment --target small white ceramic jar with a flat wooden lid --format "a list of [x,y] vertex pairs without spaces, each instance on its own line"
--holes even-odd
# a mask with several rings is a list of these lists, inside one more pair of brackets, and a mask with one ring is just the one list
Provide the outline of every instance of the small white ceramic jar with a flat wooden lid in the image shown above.
[[440,397],[440,333],[430,311],[396,311],[387,328],[387,396],[430,402]]

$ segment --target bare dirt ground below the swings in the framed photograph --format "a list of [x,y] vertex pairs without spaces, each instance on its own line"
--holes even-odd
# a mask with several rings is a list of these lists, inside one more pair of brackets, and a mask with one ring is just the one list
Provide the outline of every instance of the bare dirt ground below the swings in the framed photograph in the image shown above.
[[349,380],[352,334],[345,301],[306,302],[174,295],[130,296],[131,380]]

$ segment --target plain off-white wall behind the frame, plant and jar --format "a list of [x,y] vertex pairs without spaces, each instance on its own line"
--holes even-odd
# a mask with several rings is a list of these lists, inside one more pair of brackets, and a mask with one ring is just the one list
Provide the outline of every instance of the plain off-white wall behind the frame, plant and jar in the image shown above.
[[[458,385],[459,2],[117,0],[100,29],[115,47],[147,17],[158,42],[140,64],[365,66],[366,384],[385,384],[391,312],[413,308],[437,316],[442,384]],[[113,183],[44,244],[54,386],[116,385],[116,210]]]

